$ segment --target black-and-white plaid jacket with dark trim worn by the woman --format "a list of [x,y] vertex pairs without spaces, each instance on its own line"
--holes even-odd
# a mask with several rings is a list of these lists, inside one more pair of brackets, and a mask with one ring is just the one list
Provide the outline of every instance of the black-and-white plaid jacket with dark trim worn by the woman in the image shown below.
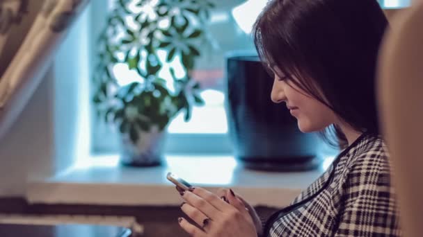
[[292,204],[273,214],[266,236],[401,236],[381,138],[362,134]]

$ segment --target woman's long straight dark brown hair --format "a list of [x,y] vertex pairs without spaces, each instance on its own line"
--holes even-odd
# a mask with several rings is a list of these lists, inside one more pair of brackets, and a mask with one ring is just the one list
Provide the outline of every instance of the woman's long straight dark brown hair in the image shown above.
[[[289,82],[355,130],[379,135],[376,60],[387,26],[376,0],[273,0],[257,18],[253,38],[265,67],[274,64],[298,78]],[[348,144],[336,125],[321,135],[333,146]]]

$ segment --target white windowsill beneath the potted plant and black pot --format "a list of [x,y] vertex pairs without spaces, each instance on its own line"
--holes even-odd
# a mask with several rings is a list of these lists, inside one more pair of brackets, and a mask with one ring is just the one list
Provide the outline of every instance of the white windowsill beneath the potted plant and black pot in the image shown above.
[[167,156],[166,165],[131,168],[118,156],[93,157],[46,180],[29,182],[26,198],[38,204],[178,205],[181,198],[166,173],[211,191],[230,187],[253,205],[284,207],[328,167],[298,173],[246,170],[230,156]]

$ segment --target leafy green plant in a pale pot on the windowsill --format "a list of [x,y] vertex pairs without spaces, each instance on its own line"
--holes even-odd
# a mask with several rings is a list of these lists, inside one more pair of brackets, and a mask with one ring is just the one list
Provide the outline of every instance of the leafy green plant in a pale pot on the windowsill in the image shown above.
[[[213,7],[207,0],[114,2],[97,41],[93,102],[119,130],[122,164],[160,164],[169,122],[181,111],[188,121],[191,107],[204,103],[191,72]],[[136,79],[122,83],[129,78],[117,65]]]

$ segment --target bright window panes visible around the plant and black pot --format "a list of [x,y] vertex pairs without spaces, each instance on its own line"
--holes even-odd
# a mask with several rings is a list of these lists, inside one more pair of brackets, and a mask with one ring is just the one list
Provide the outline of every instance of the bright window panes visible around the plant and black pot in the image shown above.
[[[212,10],[212,18],[208,32],[212,37],[212,45],[203,49],[202,57],[197,62],[193,78],[202,82],[202,92],[206,105],[193,107],[191,121],[185,123],[179,114],[168,126],[167,152],[171,153],[221,153],[228,154],[232,146],[228,138],[225,115],[225,55],[231,51],[254,51],[250,32],[251,26],[266,0],[218,1]],[[400,8],[409,6],[410,0],[379,0],[384,8]],[[106,17],[108,6],[103,1],[91,4],[95,14],[91,14],[91,44],[95,39]],[[241,4],[239,4],[241,3]],[[93,60],[95,60],[94,55]],[[95,116],[92,116],[95,117]],[[93,152],[117,152],[118,132],[110,125],[92,118]],[[104,139],[106,138],[106,139]]]

